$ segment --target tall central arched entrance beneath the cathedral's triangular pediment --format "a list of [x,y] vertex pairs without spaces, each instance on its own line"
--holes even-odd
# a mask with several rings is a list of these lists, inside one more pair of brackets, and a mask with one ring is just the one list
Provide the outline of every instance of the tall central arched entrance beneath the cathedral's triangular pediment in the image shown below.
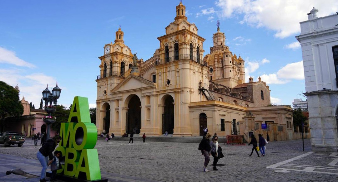
[[137,95],[131,97],[126,113],[126,133],[140,134],[141,129],[141,100]]

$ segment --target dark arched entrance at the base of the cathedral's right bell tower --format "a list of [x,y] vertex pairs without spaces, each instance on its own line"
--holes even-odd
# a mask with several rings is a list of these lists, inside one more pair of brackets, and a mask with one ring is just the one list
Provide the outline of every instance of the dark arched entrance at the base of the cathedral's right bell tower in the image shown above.
[[174,99],[168,95],[164,101],[164,113],[162,114],[162,134],[168,131],[168,134],[174,133]]

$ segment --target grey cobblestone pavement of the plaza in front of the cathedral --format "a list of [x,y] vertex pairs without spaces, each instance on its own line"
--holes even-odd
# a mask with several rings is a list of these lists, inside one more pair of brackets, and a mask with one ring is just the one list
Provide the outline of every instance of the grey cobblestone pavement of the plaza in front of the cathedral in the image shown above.
[[[108,181],[338,181],[338,153],[311,152],[310,140],[270,142],[266,156],[248,156],[252,146],[223,148],[219,171],[203,173],[204,157],[196,143],[98,141],[102,176]],[[40,146],[0,146],[0,154],[36,159]],[[255,156],[255,157],[254,157]],[[209,165],[212,164],[213,157]],[[1,181],[1,178],[0,178]]]

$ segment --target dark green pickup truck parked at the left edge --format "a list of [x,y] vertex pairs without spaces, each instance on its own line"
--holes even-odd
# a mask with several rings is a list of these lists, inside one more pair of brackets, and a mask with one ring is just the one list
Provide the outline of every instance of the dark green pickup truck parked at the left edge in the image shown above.
[[4,147],[15,144],[21,147],[24,142],[25,138],[19,132],[5,131],[0,134],[0,144],[3,144]]

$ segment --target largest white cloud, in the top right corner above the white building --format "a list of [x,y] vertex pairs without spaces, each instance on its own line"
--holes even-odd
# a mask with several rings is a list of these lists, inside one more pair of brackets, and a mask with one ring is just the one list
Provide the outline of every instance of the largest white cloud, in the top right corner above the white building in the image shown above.
[[240,23],[254,27],[266,27],[276,31],[275,37],[284,38],[300,32],[299,22],[308,20],[313,6],[319,10],[318,17],[334,14],[337,0],[218,0],[221,16],[243,16]]

